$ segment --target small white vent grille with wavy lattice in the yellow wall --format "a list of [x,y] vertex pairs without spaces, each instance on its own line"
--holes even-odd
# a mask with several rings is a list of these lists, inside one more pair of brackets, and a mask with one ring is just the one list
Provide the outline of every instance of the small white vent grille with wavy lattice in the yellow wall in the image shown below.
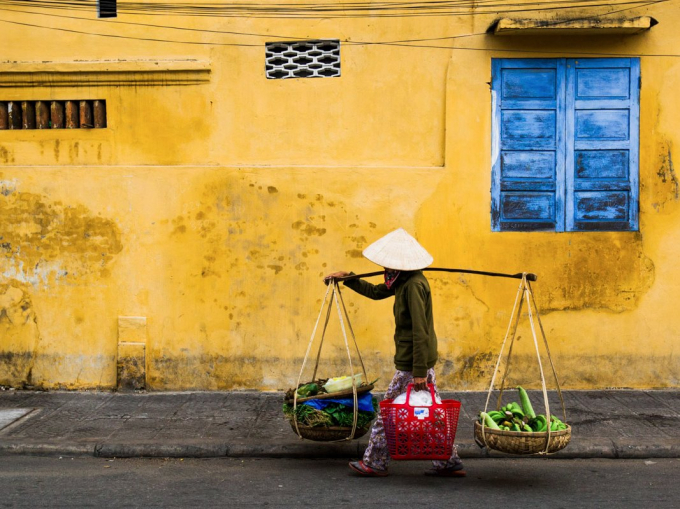
[[340,76],[340,41],[268,42],[267,79],[336,78]]

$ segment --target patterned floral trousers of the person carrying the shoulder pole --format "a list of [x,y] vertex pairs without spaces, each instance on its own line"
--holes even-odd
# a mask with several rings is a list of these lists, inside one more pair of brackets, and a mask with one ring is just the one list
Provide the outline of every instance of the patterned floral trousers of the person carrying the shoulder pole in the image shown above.
[[[413,373],[410,371],[397,371],[387,388],[385,399],[394,399],[403,394],[410,383],[413,383]],[[427,370],[427,383],[434,384],[435,393],[439,395],[433,368]],[[382,417],[378,414],[377,420],[373,423],[368,447],[366,447],[364,452],[364,464],[376,470],[386,470],[389,462],[390,453],[387,448],[387,439],[385,438],[385,426],[383,425]],[[459,464],[462,464],[462,462],[458,457],[458,450],[455,445],[453,446],[453,454],[448,461],[438,460],[432,462],[434,468],[446,468]]]

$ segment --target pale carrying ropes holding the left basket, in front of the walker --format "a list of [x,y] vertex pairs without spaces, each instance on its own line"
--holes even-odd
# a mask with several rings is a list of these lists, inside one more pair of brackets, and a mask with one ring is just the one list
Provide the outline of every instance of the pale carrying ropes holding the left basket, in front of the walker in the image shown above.
[[[332,287],[332,291],[331,291]],[[331,294],[330,299],[328,298],[328,294]],[[312,349],[312,344],[314,343],[314,338],[316,336],[316,331],[319,327],[319,322],[321,321],[321,316],[323,315],[324,312],[324,307],[326,307],[326,302],[328,302],[328,308],[326,310],[326,319],[324,320],[324,325],[323,325],[323,330],[321,332],[321,340],[319,341],[319,349],[316,354],[316,361],[314,364],[314,374],[312,376],[312,381],[316,380],[316,373],[319,368],[319,360],[321,359],[321,349],[323,347],[323,342],[324,338],[326,337],[326,330],[328,329],[328,322],[330,321],[331,317],[331,310],[333,307],[333,304],[335,304],[335,308],[338,312],[338,318],[340,319],[340,329],[342,331],[342,337],[345,340],[345,349],[347,350],[347,359],[349,360],[349,370],[350,370],[350,377],[352,379],[352,399],[354,402],[354,414],[353,414],[353,419],[352,419],[352,431],[349,434],[349,436],[342,438],[340,440],[333,440],[333,442],[344,442],[346,440],[352,440],[354,439],[354,435],[356,434],[357,430],[357,423],[359,420],[359,398],[357,394],[357,381],[356,378],[354,377],[354,365],[352,364],[352,353],[349,348],[349,341],[347,340],[347,331],[345,329],[345,321],[347,322],[347,328],[349,328],[350,334],[352,336],[352,340],[354,342],[354,347],[356,348],[357,352],[357,357],[359,359],[359,363],[361,364],[361,371],[363,372],[364,376],[364,381],[368,383],[368,376],[366,375],[366,367],[364,366],[364,360],[361,357],[361,352],[359,351],[359,345],[357,344],[356,336],[354,335],[354,330],[352,329],[352,324],[350,323],[349,320],[349,314],[347,313],[347,308],[345,307],[345,302],[342,299],[342,293],[340,292],[340,287],[338,285],[338,281],[334,280],[332,284],[329,284],[326,288],[326,293],[324,295],[323,301],[321,302],[321,309],[319,310],[319,316],[316,318],[316,323],[314,324],[314,329],[312,330],[312,336],[309,339],[309,344],[307,345],[307,351],[305,352],[305,357],[302,361],[302,367],[300,368],[300,374],[298,375],[298,380],[297,380],[297,385],[295,387],[295,391],[293,393],[293,422],[295,424],[295,432],[297,433],[298,437],[300,439],[303,438],[302,433],[300,433],[300,428],[298,427],[298,420],[297,420],[297,399],[298,399],[298,394],[297,394],[297,389],[300,387],[300,381],[302,380],[302,374],[305,369],[305,365],[307,364],[307,359],[309,358],[309,352]],[[342,307],[341,307],[342,305]],[[344,314],[344,319],[343,319],[343,314]]]

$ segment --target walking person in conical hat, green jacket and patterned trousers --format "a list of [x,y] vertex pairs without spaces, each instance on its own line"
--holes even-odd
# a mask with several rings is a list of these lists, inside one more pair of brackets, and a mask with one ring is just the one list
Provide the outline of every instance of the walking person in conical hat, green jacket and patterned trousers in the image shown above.
[[[408,384],[414,390],[427,390],[431,383],[437,390],[434,366],[437,362],[437,336],[432,315],[432,296],[422,269],[428,267],[432,256],[405,230],[399,228],[368,246],[364,256],[385,269],[385,282],[373,285],[361,279],[345,281],[345,286],[373,300],[394,297],[394,365],[396,373],[390,382],[385,399],[394,399],[406,392]],[[333,279],[353,275],[334,272],[324,278],[326,284]],[[363,476],[388,475],[390,461],[382,418],[373,424],[371,438],[363,460],[352,461],[349,466]],[[456,446],[448,461],[433,461],[426,475],[465,477],[463,463]]]

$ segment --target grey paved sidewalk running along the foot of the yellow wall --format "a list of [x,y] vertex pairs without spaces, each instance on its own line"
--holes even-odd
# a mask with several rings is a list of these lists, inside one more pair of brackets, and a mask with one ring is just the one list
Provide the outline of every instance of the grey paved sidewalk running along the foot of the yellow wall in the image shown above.
[[[680,458],[680,391],[566,391],[573,436],[560,458]],[[376,394],[381,396],[380,394]],[[462,402],[456,443],[463,458],[502,456],[473,441],[486,393],[444,393]],[[531,393],[535,408],[542,396]],[[511,391],[504,401],[517,400]],[[300,440],[282,393],[0,392],[0,454],[100,457],[353,457],[367,437]],[[551,394],[553,412],[560,408]],[[558,413],[559,415],[559,413]],[[560,416],[561,417],[561,416]]]

